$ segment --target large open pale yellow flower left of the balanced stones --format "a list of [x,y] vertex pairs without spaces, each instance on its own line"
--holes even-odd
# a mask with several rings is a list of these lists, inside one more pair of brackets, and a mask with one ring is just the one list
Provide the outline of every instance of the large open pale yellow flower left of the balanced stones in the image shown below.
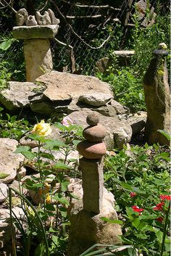
[[51,125],[50,123],[44,123],[44,120],[41,120],[41,123],[34,125],[31,133],[39,136],[47,136],[51,133]]

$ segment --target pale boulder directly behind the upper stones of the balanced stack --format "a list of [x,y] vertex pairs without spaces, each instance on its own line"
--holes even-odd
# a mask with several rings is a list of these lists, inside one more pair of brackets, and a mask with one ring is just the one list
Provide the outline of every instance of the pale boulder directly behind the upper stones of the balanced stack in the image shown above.
[[[86,128],[86,117],[91,112],[91,110],[80,110],[77,112],[72,112],[68,117],[81,125],[83,128]],[[115,117],[106,117],[99,114],[99,119],[101,125],[107,129],[107,136],[104,139],[104,142],[107,145],[107,149],[114,149],[114,147],[120,148],[124,144],[127,144],[132,136],[132,128],[130,125],[122,120],[120,121],[117,116]]]

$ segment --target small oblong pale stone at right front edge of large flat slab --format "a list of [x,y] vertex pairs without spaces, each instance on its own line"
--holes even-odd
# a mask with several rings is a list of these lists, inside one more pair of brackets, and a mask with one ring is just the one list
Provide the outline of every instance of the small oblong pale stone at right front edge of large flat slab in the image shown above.
[[112,99],[112,95],[104,93],[95,93],[95,94],[83,94],[78,98],[79,102],[83,102],[94,107],[101,107],[107,104]]

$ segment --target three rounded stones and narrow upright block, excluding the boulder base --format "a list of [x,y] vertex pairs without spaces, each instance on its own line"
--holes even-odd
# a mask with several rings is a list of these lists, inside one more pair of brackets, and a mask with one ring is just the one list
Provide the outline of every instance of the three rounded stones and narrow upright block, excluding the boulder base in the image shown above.
[[86,139],[78,144],[78,152],[83,155],[80,170],[83,178],[83,209],[99,214],[103,200],[103,156],[107,151],[104,137],[107,132],[99,124],[99,116],[93,112],[87,116],[88,127],[84,129]]

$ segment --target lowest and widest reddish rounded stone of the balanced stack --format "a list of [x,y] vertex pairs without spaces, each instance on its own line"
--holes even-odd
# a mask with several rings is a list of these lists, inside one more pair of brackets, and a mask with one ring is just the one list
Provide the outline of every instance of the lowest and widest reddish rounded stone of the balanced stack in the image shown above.
[[81,141],[77,146],[78,152],[88,159],[99,159],[104,156],[107,152],[104,141],[101,142],[90,142]]

